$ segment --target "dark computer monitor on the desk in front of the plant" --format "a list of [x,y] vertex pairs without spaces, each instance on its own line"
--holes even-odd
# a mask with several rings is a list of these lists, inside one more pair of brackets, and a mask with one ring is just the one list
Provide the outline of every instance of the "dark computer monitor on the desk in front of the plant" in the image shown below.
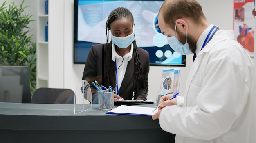
[[28,66],[0,66],[0,102],[31,103]]

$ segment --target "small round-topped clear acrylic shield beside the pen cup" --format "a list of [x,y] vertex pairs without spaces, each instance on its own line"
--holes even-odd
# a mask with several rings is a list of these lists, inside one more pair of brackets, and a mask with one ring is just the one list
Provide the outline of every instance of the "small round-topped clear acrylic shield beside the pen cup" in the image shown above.
[[86,111],[92,108],[92,91],[90,84],[86,80],[79,82],[74,96],[74,114]]

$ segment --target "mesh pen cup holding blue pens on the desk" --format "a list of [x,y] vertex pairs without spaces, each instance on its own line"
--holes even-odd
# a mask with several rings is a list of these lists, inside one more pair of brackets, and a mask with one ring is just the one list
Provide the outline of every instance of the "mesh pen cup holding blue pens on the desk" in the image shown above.
[[110,110],[114,108],[114,92],[108,90],[98,91],[99,102],[98,108],[102,110]]

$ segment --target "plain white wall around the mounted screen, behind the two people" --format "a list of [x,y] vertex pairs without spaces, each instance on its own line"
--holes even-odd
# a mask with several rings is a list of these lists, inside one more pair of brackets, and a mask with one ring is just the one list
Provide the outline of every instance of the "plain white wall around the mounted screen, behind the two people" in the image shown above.
[[[198,0],[208,21],[224,30],[233,30],[233,0]],[[84,64],[73,64],[73,0],[65,0],[64,20],[64,88],[76,90],[82,78]],[[192,64],[193,55],[186,57],[186,67],[182,72],[180,94],[184,94],[186,78]],[[148,99],[155,101],[162,76],[163,66],[150,66]]]

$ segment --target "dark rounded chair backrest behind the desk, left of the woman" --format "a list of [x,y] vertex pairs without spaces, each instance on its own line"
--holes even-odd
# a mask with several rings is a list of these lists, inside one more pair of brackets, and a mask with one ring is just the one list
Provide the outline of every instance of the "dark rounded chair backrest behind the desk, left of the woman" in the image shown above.
[[38,88],[32,95],[32,103],[74,104],[74,91],[71,89]]

